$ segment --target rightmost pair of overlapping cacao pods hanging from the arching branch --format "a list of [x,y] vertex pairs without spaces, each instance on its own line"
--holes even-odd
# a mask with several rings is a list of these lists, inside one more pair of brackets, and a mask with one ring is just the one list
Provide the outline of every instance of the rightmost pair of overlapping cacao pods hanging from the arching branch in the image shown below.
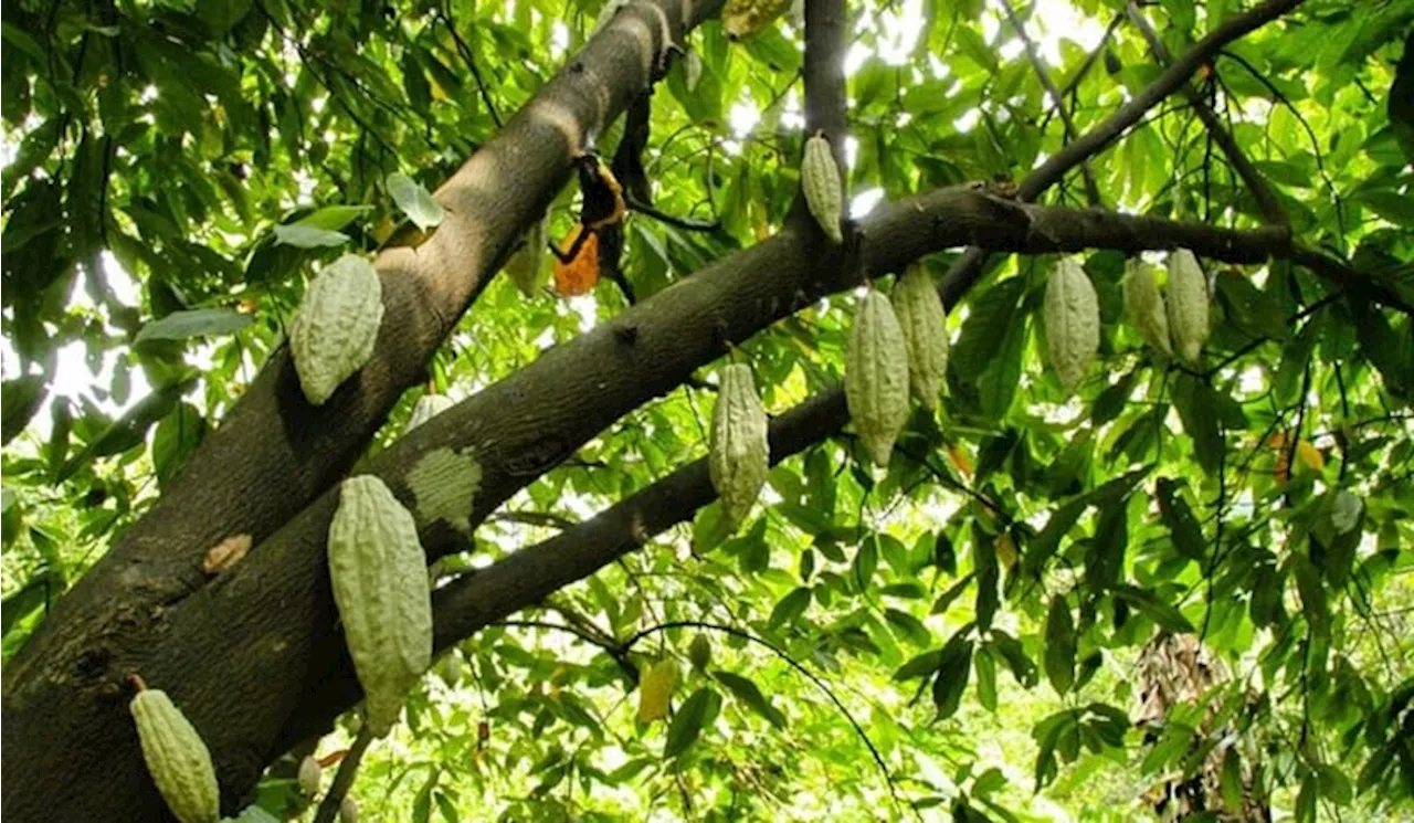
[[1208,276],[1188,249],[1168,256],[1167,290],[1154,269],[1131,259],[1124,274],[1124,310],[1150,346],[1164,356],[1198,363],[1208,341]]

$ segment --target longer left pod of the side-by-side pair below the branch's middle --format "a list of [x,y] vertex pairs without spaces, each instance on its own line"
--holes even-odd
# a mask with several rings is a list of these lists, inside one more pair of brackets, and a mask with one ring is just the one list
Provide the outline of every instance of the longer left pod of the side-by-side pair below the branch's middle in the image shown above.
[[894,307],[870,290],[844,345],[844,399],[864,448],[888,465],[908,420],[908,345]]

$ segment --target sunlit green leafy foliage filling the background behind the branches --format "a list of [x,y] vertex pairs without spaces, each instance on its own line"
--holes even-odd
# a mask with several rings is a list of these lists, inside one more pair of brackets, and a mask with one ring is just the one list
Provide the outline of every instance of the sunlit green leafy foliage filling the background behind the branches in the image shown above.
[[[1123,6],[1048,0],[1022,16],[1076,133],[1161,71]],[[1182,54],[1244,6],[1164,0],[1144,14]],[[311,264],[372,250],[402,219],[387,175],[436,188],[601,11],[546,0],[0,10],[6,62],[21,68],[0,72],[0,660],[240,396]],[[855,215],[1021,178],[1065,144],[1000,4],[850,11]],[[1311,0],[1198,78],[1292,233],[1406,301],[1411,21],[1397,0]],[[803,139],[802,42],[788,18],[741,44],[710,21],[684,44],[703,72],[689,91],[674,61],[653,98],[655,205],[721,228],[632,216],[639,297],[781,228]],[[1100,204],[1077,175],[1049,201],[1260,222],[1178,96],[1089,171]],[[553,236],[574,202],[571,187]],[[937,276],[954,257],[926,266]],[[1138,819],[1150,786],[1202,759],[1185,762],[1192,711],[1172,714],[1157,747],[1128,721],[1155,628],[1200,632],[1230,667],[1213,697],[1277,809],[1408,815],[1414,318],[1287,262],[1216,266],[1208,361],[1185,370],[1155,362],[1123,322],[1123,259],[1096,252],[1103,362],[1068,399],[1036,311],[1052,263],[998,259],[949,307],[945,410],[915,410],[887,475],[861,468],[851,436],[830,440],[773,469],[768,505],[740,535],[723,535],[708,506],[465,643],[460,684],[428,677],[407,728],[366,762],[355,793],[368,817],[904,817],[896,795],[923,815],[966,798],[998,819]],[[822,300],[742,346],[769,412],[840,379],[854,305]],[[471,396],[622,307],[609,283],[561,301],[496,279],[438,352],[430,387]],[[711,372],[516,495],[462,561],[534,543],[701,457]],[[402,433],[417,396],[370,451]],[[1342,495],[1359,503],[1353,530],[1335,526]],[[699,631],[714,642],[711,675],[689,675],[672,725],[636,725],[625,663],[684,655]],[[263,783],[270,809],[288,810],[287,766]]]

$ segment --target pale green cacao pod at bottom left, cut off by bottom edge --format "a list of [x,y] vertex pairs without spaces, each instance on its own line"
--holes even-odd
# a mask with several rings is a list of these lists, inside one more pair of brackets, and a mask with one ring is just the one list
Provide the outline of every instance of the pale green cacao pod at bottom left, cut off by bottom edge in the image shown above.
[[143,689],[129,703],[153,783],[181,823],[221,819],[221,790],[211,752],[187,716],[160,689]]

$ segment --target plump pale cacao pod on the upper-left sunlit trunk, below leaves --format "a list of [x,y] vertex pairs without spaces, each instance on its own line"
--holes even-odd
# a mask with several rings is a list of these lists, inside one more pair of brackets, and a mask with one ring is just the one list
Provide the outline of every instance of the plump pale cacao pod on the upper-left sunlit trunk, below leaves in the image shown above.
[[344,255],[325,266],[290,322],[290,355],[310,403],[329,395],[373,356],[383,322],[383,286],[373,264]]

